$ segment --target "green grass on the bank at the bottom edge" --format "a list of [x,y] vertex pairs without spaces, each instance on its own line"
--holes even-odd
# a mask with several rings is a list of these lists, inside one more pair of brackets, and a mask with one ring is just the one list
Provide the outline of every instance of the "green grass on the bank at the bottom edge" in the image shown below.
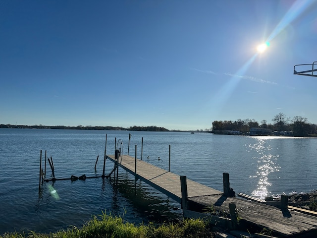
[[56,233],[5,233],[0,238],[211,238],[208,221],[184,219],[178,223],[156,225],[126,222],[121,216],[104,212],[94,216],[81,228],[71,227]]

